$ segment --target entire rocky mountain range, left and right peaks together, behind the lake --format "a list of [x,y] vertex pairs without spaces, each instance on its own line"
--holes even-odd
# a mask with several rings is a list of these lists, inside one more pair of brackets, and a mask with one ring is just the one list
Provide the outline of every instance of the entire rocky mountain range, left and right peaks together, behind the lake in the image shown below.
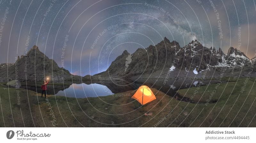
[[[15,79],[20,82],[42,81],[46,76],[50,77],[53,82],[62,82],[62,80],[78,82],[81,79],[83,81],[91,79],[94,81],[120,81],[132,78],[154,79],[159,77],[164,79],[170,72],[172,74],[168,78],[177,76],[184,78],[185,76],[193,77],[195,74],[200,77],[203,71],[207,71],[206,76],[219,76],[220,69],[223,67],[228,69],[225,72],[227,75],[230,75],[229,72],[235,71],[236,74],[230,76],[242,76],[246,75],[251,68],[255,69],[255,61],[256,57],[250,60],[243,52],[233,47],[229,48],[226,55],[220,48],[217,51],[215,47],[206,48],[197,40],[180,47],[178,42],[170,42],[165,37],[156,46],[150,45],[146,49],[139,48],[133,54],[125,50],[106,71],[94,76],[81,77],[60,68],[54,60],[40,52],[37,46],[33,46],[25,56],[18,56],[15,63],[0,64],[0,82]],[[255,76],[255,74],[250,76]]]

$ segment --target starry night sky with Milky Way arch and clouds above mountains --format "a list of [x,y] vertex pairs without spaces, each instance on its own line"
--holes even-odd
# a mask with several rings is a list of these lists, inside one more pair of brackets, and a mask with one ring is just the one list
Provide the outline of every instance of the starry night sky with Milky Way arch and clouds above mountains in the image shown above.
[[225,54],[233,46],[251,59],[255,16],[253,0],[0,0],[0,63],[24,55],[28,36],[29,49],[37,45],[59,66],[63,62],[72,74],[82,76],[105,71],[124,50],[133,53],[164,37],[180,46],[197,39]]

